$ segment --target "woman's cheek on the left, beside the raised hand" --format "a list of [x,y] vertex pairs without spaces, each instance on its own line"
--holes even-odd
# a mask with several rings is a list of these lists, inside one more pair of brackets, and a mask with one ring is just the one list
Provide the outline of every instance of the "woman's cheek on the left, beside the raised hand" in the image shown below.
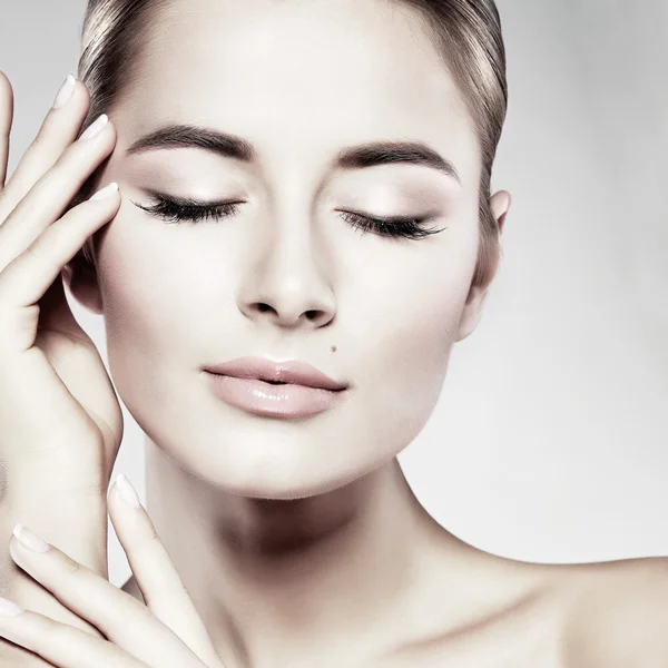
[[183,230],[118,223],[98,258],[109,367],[135,419],[150,423],[140,413],[168,405],[183,372],[207,360],[204,341],[215,336],[216,305],[227,305],[220,293],[229,269],[223,262],[193,262],[197,249]]

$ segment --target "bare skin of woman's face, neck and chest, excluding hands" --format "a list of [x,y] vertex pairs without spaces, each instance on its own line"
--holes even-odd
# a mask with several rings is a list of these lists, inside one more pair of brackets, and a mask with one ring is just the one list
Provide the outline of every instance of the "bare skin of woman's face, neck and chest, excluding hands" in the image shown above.
[[[460,541],[396,460],[489,289],[471,288],[481,161],[451,73],[418,18],[381,0],[185,7],[151,23],[138,78],[107,110],[118,140],[101,181],[118,181],[122,202],[95,279],[75,269],[71,289],[105,316],[111,375],[146,433],[148,512],[220,658],[557,666],[591,569]],[[167,122],[242,137],[257,159],[127,155]],[[344,147],[405,138],[461,183],[419,165],[330,167]],[[137,206],[149,189],[244,204],[168,225]],[[507,191],[491,199],[501,229],[509,206]],[[361,235],[336,209],[431,213],[446,229]],[[200,373],[242,355],[304,360],[351,389],[301,422],[253,415]],[[131,580],[126,590],[140,598]]]

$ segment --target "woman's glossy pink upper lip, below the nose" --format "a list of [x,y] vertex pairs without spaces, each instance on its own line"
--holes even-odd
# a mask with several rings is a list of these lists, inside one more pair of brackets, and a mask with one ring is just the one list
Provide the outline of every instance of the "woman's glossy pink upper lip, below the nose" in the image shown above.
[[237,379],[274,381],[333,392],[341,392],[350,387],[350,383],[335,381],[311,364],[298,360],[274,362],[266,357],[237,357],[223,364],[204,366],[204,371]]

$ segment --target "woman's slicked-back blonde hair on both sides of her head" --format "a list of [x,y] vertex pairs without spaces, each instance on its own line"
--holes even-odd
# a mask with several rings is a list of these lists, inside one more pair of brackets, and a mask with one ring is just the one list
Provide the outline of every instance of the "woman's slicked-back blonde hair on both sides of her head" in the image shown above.
[[[493,277],[501,252],[499,229],[490,210],[491,174],[508,109],[505,49],[494,0],[390,0],[413,8],[443,56],[464,97],[477,129],[482,158],[480,180],[478,262],[472,286]],[[140,49],[150,26],[159,21],[170,0],[89,0],[81,32],[79,79],[90,91],[91,105],[84,129],[109,111],[140,67]],[[150,11],[149,11],[150,10]],[[79,194],[88,197],[99,169]],[[84,256],[95,264],[95,240]]]

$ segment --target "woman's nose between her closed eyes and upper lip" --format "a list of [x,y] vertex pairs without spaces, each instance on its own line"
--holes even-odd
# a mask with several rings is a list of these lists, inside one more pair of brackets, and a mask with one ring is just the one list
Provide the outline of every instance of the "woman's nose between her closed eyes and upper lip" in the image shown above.
[[244,265],[238,307],[258,323],[323,327],[336,312],[324,249],[314,243],[311,225],[273,223],[274,234],[258,235],[264,240],[253,246]]

